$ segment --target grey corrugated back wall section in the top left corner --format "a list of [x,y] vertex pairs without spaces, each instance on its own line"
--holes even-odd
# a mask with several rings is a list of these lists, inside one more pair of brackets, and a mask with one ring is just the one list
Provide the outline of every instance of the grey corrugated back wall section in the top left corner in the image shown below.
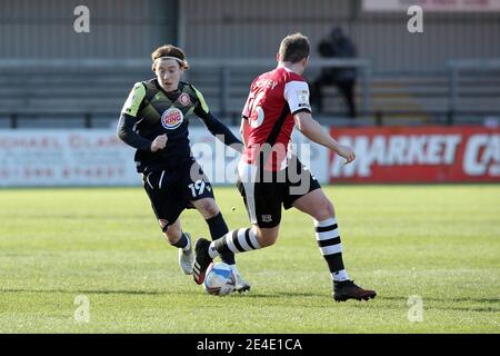
[[[74,8],[90,10],[90,33],[77,33]],[[177,38],[173,0],[1,0],[0,58],[149,58]]]

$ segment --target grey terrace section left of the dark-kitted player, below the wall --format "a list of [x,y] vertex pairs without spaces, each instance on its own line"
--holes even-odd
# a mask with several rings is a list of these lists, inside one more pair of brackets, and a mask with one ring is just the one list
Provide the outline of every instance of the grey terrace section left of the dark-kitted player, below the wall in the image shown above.
[[133,82],[148,76],[147,68],[99,61],[50,63],[0,66],[2,127],[109,127]]

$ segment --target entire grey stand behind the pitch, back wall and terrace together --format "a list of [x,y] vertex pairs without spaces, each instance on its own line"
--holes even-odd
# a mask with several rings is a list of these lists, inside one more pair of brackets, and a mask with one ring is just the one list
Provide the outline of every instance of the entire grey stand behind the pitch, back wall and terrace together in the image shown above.
[[[364,11],[361,0],[311,0],[308,7],[300,0],[256,0],[246,7],[233,1],[109,0],[89,7],[91,31],[77,33],[73,9],[63,0],[6,2],[0,13],[0,127],[113,125],[132,83],[152,77],[150,51],[167,42],[187,51],[193,66],[184,79],[203,92],[212,111],[237,123],[251,80],[267,68],[224,71],[217,65],[198,67],[193,59],[270,60],[284,32],[303,31],[314,47],[332,26],[346,29],[372,67],[368,87],[358,80],[362,115],[346,123],[478,123],[500,117],[500,67],[462,71],[457,80],[447,67],[453,59],[477,58],[481,66],[500,57],[498,11],[429,11],[426,33],[432,36],[420,36],[407,31],[406,11]],[[49,65],[40,66],[39,59]],[[136,65],[117,66],[117,59]],[[80,67],[80,61],[87,65]],[[318,70],[308,68],[306,77],[312,81]],[[341,125],[343,100],[334,87],[324,92],[326,112],[317,118]]]

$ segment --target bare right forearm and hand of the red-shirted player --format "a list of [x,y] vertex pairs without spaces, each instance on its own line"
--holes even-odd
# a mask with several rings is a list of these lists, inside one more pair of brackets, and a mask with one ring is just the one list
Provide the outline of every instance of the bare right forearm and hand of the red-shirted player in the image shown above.
[[303,136],[313,142],[324,146],[334,151],[340,157],[346,158],[346,164],[350,164],[356,159],[354,151],[344,145],[340,145],[333,139],[321,125],[316,121],[307,111],[298,112],[293,116],[297,128]]

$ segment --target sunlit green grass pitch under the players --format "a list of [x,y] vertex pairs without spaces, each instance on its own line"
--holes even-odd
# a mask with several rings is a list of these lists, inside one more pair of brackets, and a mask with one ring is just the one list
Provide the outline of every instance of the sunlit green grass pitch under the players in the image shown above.
[[[237,256],[251,291],[214,297],[181,274],[141,188],[0,190],[0,333],[500,332],[499,185],[324,189],[346,267],[373,300],[332,300],[297,210],[274,246]],[[230,228],[248,226],[236,188],[216,197]],[[182,226],[208,237],[194,210]]]

